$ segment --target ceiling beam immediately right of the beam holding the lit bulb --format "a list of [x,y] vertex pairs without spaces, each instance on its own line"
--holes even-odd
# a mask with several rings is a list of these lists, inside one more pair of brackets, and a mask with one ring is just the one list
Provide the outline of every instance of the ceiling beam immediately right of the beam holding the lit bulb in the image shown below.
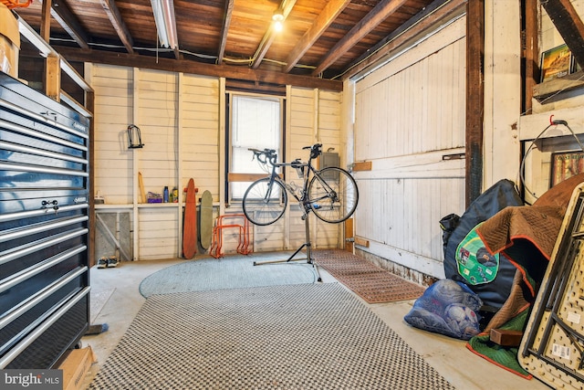
[[287,66],[284,71],[287,73],[298,63],[300,58],[317,41],[318,37],[325,32],[337,16],[350,4],[350,0],[330,0],[318,15],[317,20],[310,29],[300,38],[296,47],[292,49],[286,60]]

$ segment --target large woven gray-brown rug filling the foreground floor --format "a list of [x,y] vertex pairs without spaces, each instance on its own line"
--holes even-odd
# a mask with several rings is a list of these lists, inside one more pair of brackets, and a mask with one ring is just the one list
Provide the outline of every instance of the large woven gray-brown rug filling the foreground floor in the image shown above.
[[454,389],[338,283],[148,298],[90,389]]

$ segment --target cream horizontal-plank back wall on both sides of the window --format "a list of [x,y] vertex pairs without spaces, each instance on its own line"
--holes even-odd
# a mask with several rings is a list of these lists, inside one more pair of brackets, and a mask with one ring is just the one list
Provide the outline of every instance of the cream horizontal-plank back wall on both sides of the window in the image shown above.
[[[168,185],[169,189],[176,186],[181,195],[193,177],[198,196],[211,191],[218,215],[218,205],[225,201],[220,191],[223,167],[219,162],[224,153],[220,80],[93,65],[89,81],[96,90],[95,188],[106,198],[104,208],[133,210],[135,258],[179,257],[182,206],[139,204],[134,174],[141,172],[146,191],[162,193]],[[325,144],[325,150],[339,151],[340,101],[337,92],[288,88],[287,161],[306,160],[308,152],[302,147],[314,142]],[[127,148],[129,124],[141,129],[142,149]],[[295,177],[296,171],[287,173],[287,179]],[[276,224],[252,227],[255,251],[294,250],[306,241],[301,212],[293,202],[290,205]],[[224,209],[229,214],[241,212],[236,203]],[[314,216],[310,223],[315,248],[337,248],[339,226],[317,222]],[[224,231],[225,253],[235,252],[237,238],[236,230]]]

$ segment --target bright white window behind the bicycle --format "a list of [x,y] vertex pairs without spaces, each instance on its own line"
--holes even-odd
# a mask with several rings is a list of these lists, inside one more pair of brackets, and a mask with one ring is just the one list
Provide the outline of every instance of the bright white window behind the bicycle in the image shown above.
[[[261,166],[248,150],[274,149],[282,161],[282,100],[274,97],[230,95],[231,151],[229,172],[263,174]],[[249,183],[231,183],[231,198],[241,199]]]

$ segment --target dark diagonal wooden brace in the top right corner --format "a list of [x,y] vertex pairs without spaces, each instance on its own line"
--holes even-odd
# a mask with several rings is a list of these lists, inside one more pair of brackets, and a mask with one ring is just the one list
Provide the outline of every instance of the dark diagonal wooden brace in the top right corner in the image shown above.
[[584,68],[584,24],[569,0],[540,1],[558,29],[558,33],[572,52],[572,56]]

